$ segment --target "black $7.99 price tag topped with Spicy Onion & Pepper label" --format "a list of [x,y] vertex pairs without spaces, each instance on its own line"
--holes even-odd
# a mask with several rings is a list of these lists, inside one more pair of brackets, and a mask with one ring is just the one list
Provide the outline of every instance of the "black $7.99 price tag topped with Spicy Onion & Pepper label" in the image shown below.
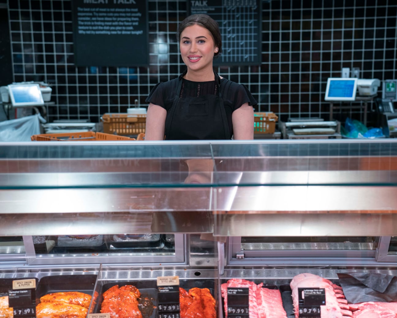
[[8,291],[8,306],[13,308],[14,318],[36,317],[36,280],[13,280]]

